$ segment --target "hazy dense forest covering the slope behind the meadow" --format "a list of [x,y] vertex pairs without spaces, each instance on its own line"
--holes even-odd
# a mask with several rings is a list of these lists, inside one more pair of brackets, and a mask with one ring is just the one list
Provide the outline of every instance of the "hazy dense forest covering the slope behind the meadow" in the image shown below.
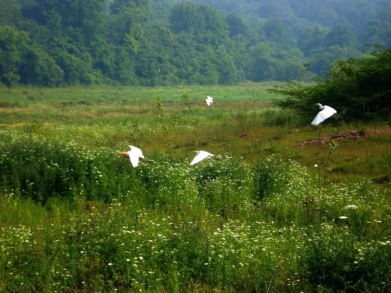
[[0,84],[237,84],[324,76],[391,48],[387,0],[0,0]]

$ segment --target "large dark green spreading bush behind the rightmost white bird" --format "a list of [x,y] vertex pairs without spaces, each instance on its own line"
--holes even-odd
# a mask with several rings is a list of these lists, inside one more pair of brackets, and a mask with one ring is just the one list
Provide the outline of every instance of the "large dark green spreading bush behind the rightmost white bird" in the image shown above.
[[[326,78],[316,78],[316,84],[301,85],[287,82],[270,92],[287,98],[276,101],[283,108],[297,109],[301,114],[314,116],[314,103],[330,105],[343,113],[342,119],[390,119],[391,51],[381,47],[368,52],[368,58],[339,60],[331,65]],[[311,110],[312,107],[312,110]]]

